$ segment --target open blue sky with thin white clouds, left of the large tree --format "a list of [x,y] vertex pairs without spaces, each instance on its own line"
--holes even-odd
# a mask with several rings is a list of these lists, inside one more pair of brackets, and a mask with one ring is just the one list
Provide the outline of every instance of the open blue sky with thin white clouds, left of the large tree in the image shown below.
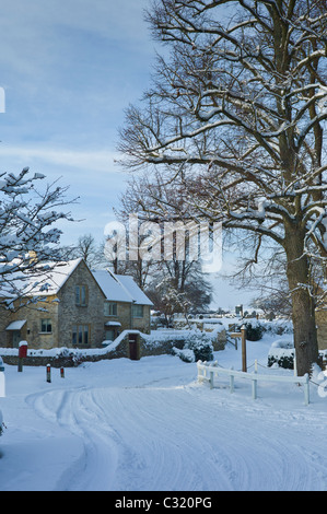
[[[143,20],[150,0],[1,0],[0,170],[25,166],[60,178],[78,223],[62,244],[103,241],[126,175],[115,164],[124,110],[150,83],[155,44]],[[226,264],[226,262],[224,262]],[[217,281],[217,304],[244,299]],[[253,294],[250,294],[250,297]],[[243,300],[244,299],[244,300]]]

